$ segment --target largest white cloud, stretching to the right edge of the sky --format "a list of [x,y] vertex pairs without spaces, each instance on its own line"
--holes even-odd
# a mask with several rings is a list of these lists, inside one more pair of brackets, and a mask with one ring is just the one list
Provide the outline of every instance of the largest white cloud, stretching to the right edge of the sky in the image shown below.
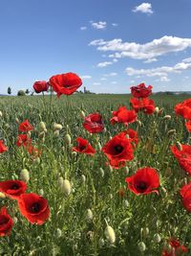
[[159,39],[138,44],[136,42],[123,42],[120,38],[110,41],[96,39],[89,43],[96,46],[98,51],[115,52],[109,55],[110,58],[136,58],[136,59],[155,59],[169,53],[178,53],[187,48],[191,48],[191,38],[181,38],[176,36],[164,35]]

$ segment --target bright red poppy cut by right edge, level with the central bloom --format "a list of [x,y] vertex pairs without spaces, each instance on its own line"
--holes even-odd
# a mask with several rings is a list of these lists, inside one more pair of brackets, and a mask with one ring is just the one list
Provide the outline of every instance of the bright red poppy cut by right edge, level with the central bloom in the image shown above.
[[181,144],[181,150],[179,150],[176,146],[172,146],[171,151],[178,159],[180,167],[191,175],[191,146]]

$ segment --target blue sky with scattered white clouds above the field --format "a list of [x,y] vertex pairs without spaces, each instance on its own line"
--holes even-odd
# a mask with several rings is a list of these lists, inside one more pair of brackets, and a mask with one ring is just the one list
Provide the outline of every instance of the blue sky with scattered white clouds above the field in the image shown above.
[[0,93],[74,72],[94,92],[191,90],[190,0],[1,0]]

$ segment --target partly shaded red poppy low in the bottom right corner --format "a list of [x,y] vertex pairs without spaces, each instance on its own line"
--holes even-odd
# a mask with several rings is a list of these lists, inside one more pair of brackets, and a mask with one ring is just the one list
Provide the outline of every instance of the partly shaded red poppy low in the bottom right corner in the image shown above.
[[176,239],[170,239],[169,244],[171,245],[171,249],[163,249],[161,256],[178,256],[188,252],[188,248],[181,245]]

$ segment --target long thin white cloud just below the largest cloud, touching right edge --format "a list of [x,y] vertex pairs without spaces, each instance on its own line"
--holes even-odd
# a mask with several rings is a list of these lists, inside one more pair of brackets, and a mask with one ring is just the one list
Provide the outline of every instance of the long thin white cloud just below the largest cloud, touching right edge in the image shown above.
[[[174,66],[161,66],[151,69],[134,69],[132,67],[126,68],[126,73],[128,76],[146,76],[146,77],[160,77],[163,81],[167,80],[169,73],[182,73],[184,70],[191,69],[191,62],[180,62]],[[165,77],[165,79],[164,79]]]

